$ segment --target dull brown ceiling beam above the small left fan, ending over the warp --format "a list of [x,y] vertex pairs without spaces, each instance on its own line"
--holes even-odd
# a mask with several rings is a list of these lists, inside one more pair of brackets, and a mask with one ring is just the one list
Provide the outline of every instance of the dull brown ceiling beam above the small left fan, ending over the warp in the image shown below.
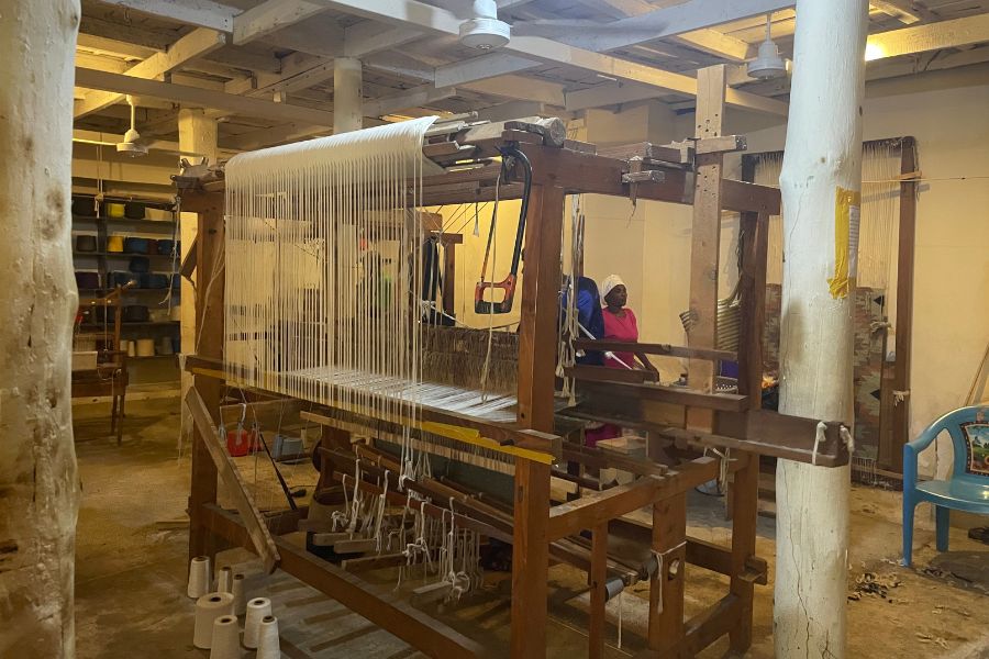
[[136,78],[122,74],[109,74],[87,68],[76,68],[76,85],[102,89],[118,94],[138,94],[159,98],[190,108],[211,108],[232,114],[270,119],[273,121],[305,122],[315,125],[333,125],[333,113],[324,110],[300,108],[289,103],[275,103],[263,99],[234,96],[212,89],[171,85],[158,80]]

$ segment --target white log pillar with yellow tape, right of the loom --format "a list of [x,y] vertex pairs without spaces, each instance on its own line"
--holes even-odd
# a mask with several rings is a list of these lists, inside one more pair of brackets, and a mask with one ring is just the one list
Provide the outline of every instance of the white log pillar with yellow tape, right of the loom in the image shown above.
[[[848,199],[862,187],[867,12],[866,0],[797,2],[790,118],[779,178],[786,236],[780,412],[843,421],[849,427],[855,282],[844,292],[832,280],[836,269],[844,271],[836,266],[836,244],[841,250],[848,242],[842,217],[848,216],[848,205],[858,205]],[[851,215],[855,222],[857,209]],[[854,277],[854,260],[848,265]],[[849,477],[847,467],[779,460],[777,657],[845,656]]]

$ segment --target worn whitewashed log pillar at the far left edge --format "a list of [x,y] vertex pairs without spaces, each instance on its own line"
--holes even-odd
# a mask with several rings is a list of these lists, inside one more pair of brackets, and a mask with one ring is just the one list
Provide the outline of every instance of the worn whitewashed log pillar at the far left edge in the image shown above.
[[0,656],[75,657],[73,82],[79,0],[0,10]]

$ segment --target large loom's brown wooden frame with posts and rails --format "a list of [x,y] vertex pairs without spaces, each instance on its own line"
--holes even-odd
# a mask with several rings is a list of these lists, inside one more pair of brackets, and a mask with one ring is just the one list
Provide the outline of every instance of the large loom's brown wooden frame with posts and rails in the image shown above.
[[[619,518],[643,505],[653,509],[652,547],[662,556],[662,571],[651,577],[648,647],[652,652],[663,656],[692,656],[711,643],[727,634],[733,650],[742,652],[752,641],[753,584],[765,583],[765,561],[755,556],[755,528],[757,507],[758,459],[756,453],[767,445],[747,443],[759,424],[746,412],[759,406],[762,379],[762,319],[765,291],[765,260],[768,216],[779,210],[779,192],[771,188],[742,183],[723,179],[720,167],[718,181],[708,185],[698,194],[703,203],[694,199],[693,174],[677,163],[651,160],[648,169],[662,176],[647,175],[626,178],[632,171],[641,171],[642,163],[620,159],[592,153],[591,145],[568,142],[563,147],[546,146],[542,137],[518,130],[505,130],[499,136],[475,144],[476,155],[497,154],[497,148],[513,144],[522,149],[533,164],[533,185],[530,197],[530,227],[525,235],[525,272],[522,289],[522,319],[519,351],[519,413],[515,427],[502,426],[499,431],[505,444],[525,438],[533,450],[542,450],[551,456],[564,456],[573,467],[579,462],[603,466],[614,463],[643,474],[630,487],[613,488],[605,492],[594,492],[589,496],[553,506],[549,496],[551,465],[547,461],[515,456],[514,505],[511,534],[513,541],[512,569],[512,657],[544,657],[546,652],[547,592],[551,544],[580,529],[593,533],[590,558],[586,562],[591,587],[589,619],[590,656],[603,657],[604,652],[604,604],[608,574],[607,536],[609,528]],[[723,138],[698,143],[699,153],[704,152],[708,163],[718,163],[723,150],[715,145],[724,145]],[[471,143],[474,144],[474,143]],[[734,143],[737,146],[737,143]],[[646,145],[649,146],[649,145]],[[642,150],[642,145],[633,145],[633,153]],[[636,150],[638,149],[638,150]],[[670,153],[676,149],[668,149]],[[648,149],[646,150],[648,154]],[[490,172],[488,172],[490,174]],[[636,182],[623,182],[634,180]],[[424,182],[424,203],[471,203],[492,196],[493,188],[482,185],[491,177],[478,171],[453,172]],[[640,182],[641,181],[641,182]],[[709,181],[710,183],[710,181]],[[700,190],[698,188],[698,190]],[[501,188],[501,198],[521,192],[513,183]],[[741,368],[740,396],[734,399],[731,410],[723,412],[725,420],[734,418],[734,426],[742,431],[734,437],[715,435],[721,404],[718,394],[692,393],[689,400],[675,399],[669,403],[687,410],[702,410],[710,427],[693,426],[687,436],[675,438],[684,446],[703,444],[730,446],[741,449],[733,454],[730,472],[733,474],[731,512],[734,528],[731,547],[700,543],[686,536],[686,494],[690,488],[714,478],[718,463],[711,458],[699,458],[673,470],[660,469],[649,463],[636,465],[632,460],[609,457],[582,446],[565,443],[554,444],[554,377],[555,345],[557,342],[557,281],[559,280],[560,233],[564,215],[564,200],[567,193],[590,192],[629,197],[631,192],[638,199],[652,199],[674,203],[700,205],[694,213],[696,231],[721,222],[722,209],[742,213],[744,227],[744,267],[741,273],[743,291],[743,324],[738,361]],[[209,183],[199,189],[182,192],[182,210],[199,213],[199,237],[196,248],[198,278],[209,281],[222,267],[223,249],[223,192],[222,183]],[[533,231],[537,230],[537,231]],[[716,244],[707,249],[718,249]],[[697,255],[694,255],[697,256]],[[715,300],[710,294],[711,282],[691,283],[692,289],[705,287],[710,309],[715,312]],[[716,293],[716,279],[713,281]],[[193,373],[193,392],[201,398],[210,414],[220,413],[223,380],[223,314],[215,313],[222,308],[223,286],[218,280],[212,287],[198,287],[196,312],[198,319],[198,355],[187,360],[187,368]],[[213,310],[214,313],[208,313]],[[713,336],[704,342],[694,342],[691,355],[712,357]],[[704,354],[704,350],[708,354]],[[718,356],[721,356],[720,354]],[[612,384],[618,386],[618,384]],[[710,389],[708,390],[710,391]],[[740,423],[741,417],[741,423]],[[451,423],[464,420],[448,418]],[[815,424],[813,420],[798,420]],[[746,426],[748,422],[748,426]],[[192,484],[189,498],[190,556],[214,555],[224,545],[253,548],[266,557],[264,543],[253,538],[245,526],[245,516],[259,515],[256,510],[241,510],[240,517],[216,506],[216,465],[207,446],[215,440],[210,437],[211,424],[196,424],[192,449]],[[489,425],[489,424],[488,424]],[[731,426],[731,424],[726,424]],[[475,424],[477,426],[477,424]],[[485,426],[487,427],[487,426]],[[801,426],[803,427],[803,426]],[[747,429],[745,429],[747,428]],[[485,428],[482,428],[485,429]],[[490,429],[490,428],[488,428]],[[667,426],[653,428],[655,438],[666,437],[676,428]],[[535,432],[535,433],[533,433]],[[738,435],[742,435],[738,437]],[[831,435],[834,435],[833,437]],[[829,436],[832,461],[842,463],[837,448],[836,428]],[[326,432],[320,446],[324,449],[346,445],[346,433]],[[813,435],[808,435],[809,442]],[[726,444],[727,443],[727,444]],[[786,448],[786,443],[780,442]],[[745,449],[754,453],[746,453]],[[803,447],[803,459],[810,460],[809,447]],[[822,448],[824,456],[829,449]],[[845,462],[847,461],[847,456]],[[800,458],[798,458],[800,459]],[[558,472],[557,472],[558,473]],[[326,472],[321,476],[325,484]],[[576,477],[575,477],[576,478]],[[291,517],[291,520],[288,520]],[[288,522],[286,522],[288,520]],[[486,654],[485,648],[446,625],[412,608],[408,603],[398,602],[391,593],[384,593],[364,582],[359,577],[299,550],[279,538],[280,533],[296,528],[298,514],[286,513],[277,520],[268,520],[267,526],[275,535],[274,543],[280,555],[277,567],[302,581],[341,601],[356,613],[380,625],[420,650],[437,657],[476,657]],[[555,556],[555,555],[554,555]],[[731,578],[730,592],[713,606],[698,616],[686,621],[684,617],[684,587],[687,562],[727,574]]]

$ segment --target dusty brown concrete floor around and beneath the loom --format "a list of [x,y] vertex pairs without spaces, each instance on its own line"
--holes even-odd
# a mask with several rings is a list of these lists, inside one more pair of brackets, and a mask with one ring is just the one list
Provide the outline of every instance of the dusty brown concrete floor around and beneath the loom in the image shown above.
[[[178,456],[177,399],[129,404],[123,446],[109,436],[105,405],[78,405],[76,447],[84,499],[76,546],[76,632],[80,659],[112,657],[204,658],[195,649],[191,601],[185,594],[187,526],[184,523],[189,483],[188,456]],[[305,484],[304,470],[290,474]],[[260,494],[260,499],[264,494]],[[978,588],[963,588],[959,579],[922,573],[932,560],[944,572],[953,561],[986,566],[986,546],[952,532],[952,551],[933,550],[929,511],[918,514],[915,567],[897,565],[900,551],[900,496],[896,492],[853,489],[849,589],[863,572],[899,581],[888,599],[864,595],[848,603],[848,657],[966,657],[989,659],[989,597]],[[774,521],[759,520],[758,552],[769,559],[770,584],[756,587],[754,645],[748,656],[773,657]],[[729,529],[715,498],[691,498],[693,536],[723,541]],[[982,551],[973,559],[970,552]],[[222,555],[248,574],[259,572],[245,551]],[[986,570],[982,569],[982,573]],[[382,580],[385,578],[382,577]],[[586,656],[587,595],[584,576],[566,567],[551,570],[553,657]],[[401,640],[300,584],[286,574],[249,576],[251,594],[268,594],[281,621],[285,657],[420,656]],[[503,590],[503,587],[501,587]],[[632,589],[645,595],[645,584]],[[688,574],[688,614],[721,596],[725,580],[704,570]],[[492,646],[508,639],[509,607],[498,588],[479,593],[452,611],[434,611],[462,632]],[[626,657],[643,649],[644,601],[621,597],[623,648],[615,647],[616,626],[609,628],[609,657]],[[614,623],[619,602],[610,604]],[[718,657],[726,644],[704,657]],[[248,657],[252,655],[248,655]]]

